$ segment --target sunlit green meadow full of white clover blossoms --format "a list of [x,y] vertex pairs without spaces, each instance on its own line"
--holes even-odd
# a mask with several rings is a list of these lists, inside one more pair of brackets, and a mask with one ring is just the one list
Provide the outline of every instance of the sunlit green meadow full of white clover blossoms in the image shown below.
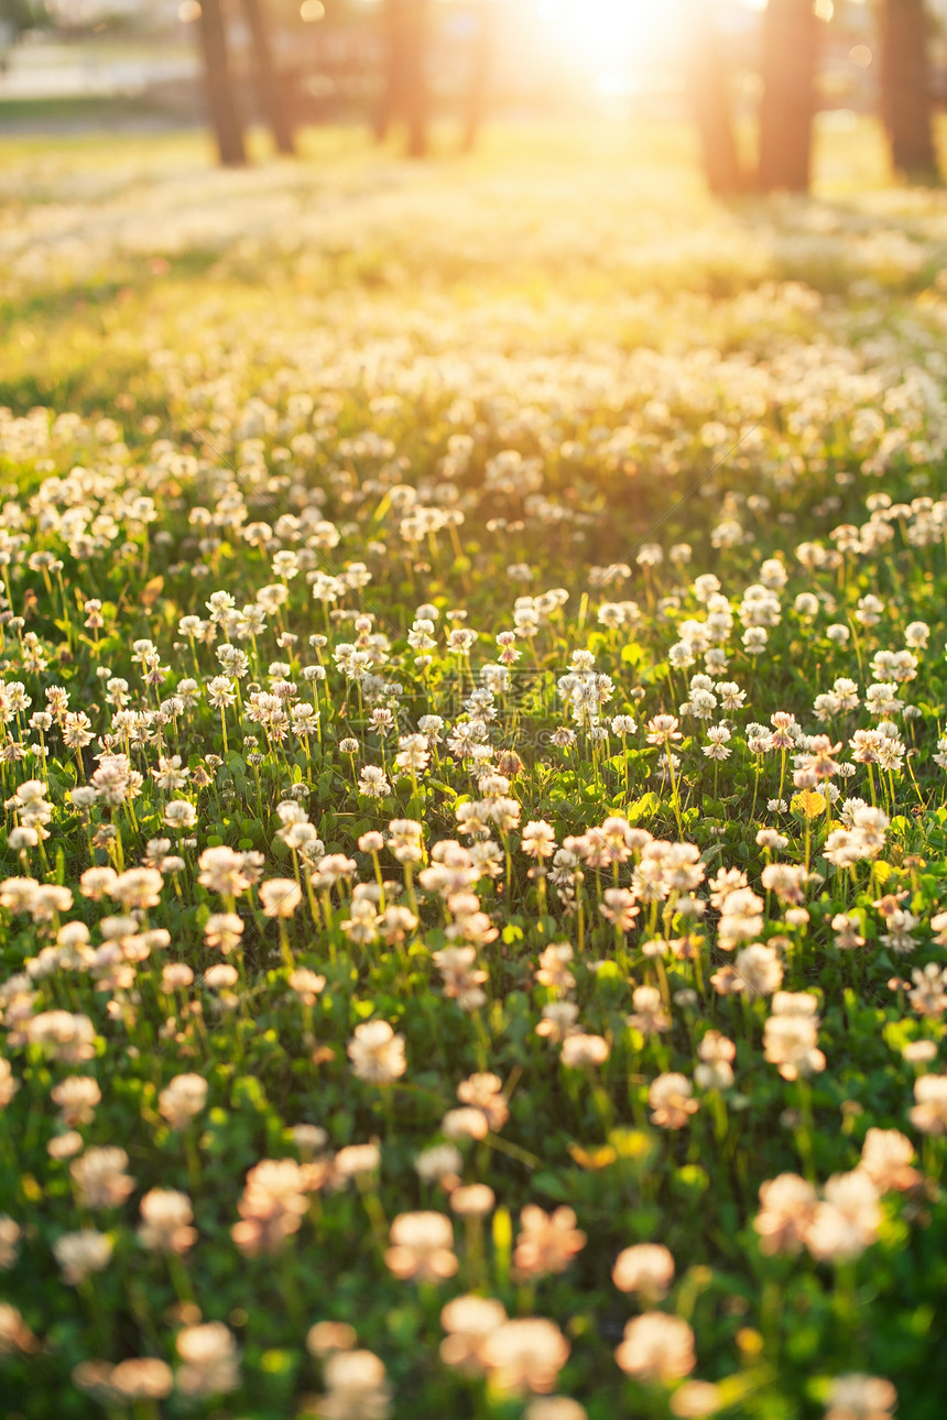
[[940,1420],[947,195],[0,163],[9,1420]]

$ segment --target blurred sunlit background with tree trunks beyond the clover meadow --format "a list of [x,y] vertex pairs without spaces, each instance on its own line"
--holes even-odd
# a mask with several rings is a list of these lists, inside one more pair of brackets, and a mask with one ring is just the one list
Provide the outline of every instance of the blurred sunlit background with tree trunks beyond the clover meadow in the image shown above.
[[9,136],[204,128],[227,165],[319,126],[443,158],[609,122],[679,135],[718,193],[804,190],[839,133],[930,183],[946,105],[947,0],[0,0]]

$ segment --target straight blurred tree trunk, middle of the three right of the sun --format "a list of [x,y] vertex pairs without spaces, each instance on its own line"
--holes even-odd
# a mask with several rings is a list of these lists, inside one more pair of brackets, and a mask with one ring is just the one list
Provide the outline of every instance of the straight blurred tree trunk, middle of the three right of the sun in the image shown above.
[[812,0],[770,0],[764,11],[761,192],[808,192],[818,23]]

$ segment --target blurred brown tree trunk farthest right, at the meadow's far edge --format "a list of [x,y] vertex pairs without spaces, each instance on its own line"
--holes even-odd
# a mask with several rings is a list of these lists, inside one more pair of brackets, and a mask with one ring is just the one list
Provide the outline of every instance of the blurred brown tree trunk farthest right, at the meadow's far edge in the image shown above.
[[924,0],[885,0],[882,111],[896,170],[936,182]]

